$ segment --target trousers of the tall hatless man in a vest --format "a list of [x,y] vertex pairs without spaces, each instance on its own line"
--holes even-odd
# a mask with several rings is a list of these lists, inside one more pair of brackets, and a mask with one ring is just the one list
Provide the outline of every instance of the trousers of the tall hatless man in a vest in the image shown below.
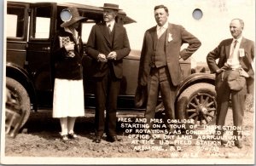
[[177,87],[172,85],[172,80],[167,66],[159,68],[153,67],[150,71],[150,81],[148,83],[148,103],[145,112],[145,118],[149,128],[152,129],[155,108],[159,97],[159,92],[165,106],[166,119],[175,118],[175,98]]

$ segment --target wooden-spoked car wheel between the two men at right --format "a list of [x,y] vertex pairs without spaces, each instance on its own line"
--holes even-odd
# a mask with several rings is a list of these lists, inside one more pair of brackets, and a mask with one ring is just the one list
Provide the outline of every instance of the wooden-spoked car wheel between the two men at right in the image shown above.
[[195,124],[209,125],[216,119],[216,92],[210,83],[195,83],[183,91],[177,100],[177,118],[190,119]]

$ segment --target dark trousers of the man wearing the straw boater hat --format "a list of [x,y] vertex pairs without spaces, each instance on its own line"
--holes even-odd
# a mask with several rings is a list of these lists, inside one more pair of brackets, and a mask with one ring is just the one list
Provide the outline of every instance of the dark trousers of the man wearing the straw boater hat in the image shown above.
[[[108,136],[116,135],[117,100],[120,89],[120,79],[116,78],[113,69],[106,75],[96,79],[96,136],[102,136],[106,129]],[[106,121],[105,119],[106,109]]]

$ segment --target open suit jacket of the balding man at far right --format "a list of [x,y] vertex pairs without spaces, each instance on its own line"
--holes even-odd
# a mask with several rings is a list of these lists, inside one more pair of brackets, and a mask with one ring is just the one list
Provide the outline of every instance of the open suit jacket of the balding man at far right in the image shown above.
[[[230,46],[233,41],[233,38],[225,39],[218,44],[218,47],[213,49],[209,54],[207,54],[207,64],[211,72],[216,72],[219,68],[224,66],[224,63],[227,62],[230,56]],[[247,78],[247,90],[249,93],[253,90],[253,80],[254,72],[252,61],[254,59],[254,42],[242,37],[240,49],[244,49],[245,56],[239,57],[241,67],[248,73],[250,76]],[[218,59],[218,64],[216,60]]]

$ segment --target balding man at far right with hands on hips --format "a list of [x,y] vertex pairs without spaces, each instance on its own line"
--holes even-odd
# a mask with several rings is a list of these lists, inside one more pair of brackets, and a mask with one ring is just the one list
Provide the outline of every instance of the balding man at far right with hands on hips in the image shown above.
[[[253,92],[254,80],[252,66],[254,43],[242,37],[243,27],[243,20],[231,20],[230,33],[233,38],[223,40],[216,49],[207,54],[207,64],[211,72],[216,73],[216,125],[223,128],[231,95],[233,123],[237,128],[233,135],[236,135],[235,146],[239,148],[242,147],[241,126],[246,94]],[[218,64],[216,63],[217,59]],[[233,82],[231,82],[231,78]],[[221,129],[221,134],[223,135],[223,133],[224,131]],[[225,144],[225,141],[222,140],[222,143]]]

